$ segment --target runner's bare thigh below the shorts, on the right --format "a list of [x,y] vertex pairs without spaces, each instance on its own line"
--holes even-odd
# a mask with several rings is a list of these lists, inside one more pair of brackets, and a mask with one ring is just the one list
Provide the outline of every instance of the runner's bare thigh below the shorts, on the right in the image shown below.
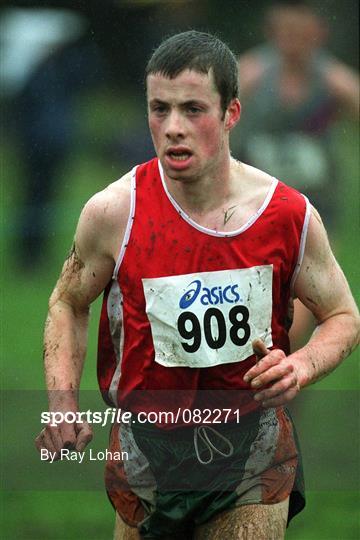
[[194,540],[282,540],[288,509],[288,498],[277,504],[239,506],[198,526]]

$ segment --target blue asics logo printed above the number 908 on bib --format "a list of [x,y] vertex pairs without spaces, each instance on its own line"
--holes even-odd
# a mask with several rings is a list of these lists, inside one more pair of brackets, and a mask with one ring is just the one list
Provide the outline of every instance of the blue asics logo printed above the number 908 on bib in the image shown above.
[[219,285],[210,289],[208,287],[202,287],[201,281],[195,279],[189,283],[188,290],[180,298],[179,306],[181,309],[187,309],[198,297],[204,306],[216,306],[224,303],[235,304],[241,300],[237,292],[238,288],[238,285],[226,285],[225,287]]

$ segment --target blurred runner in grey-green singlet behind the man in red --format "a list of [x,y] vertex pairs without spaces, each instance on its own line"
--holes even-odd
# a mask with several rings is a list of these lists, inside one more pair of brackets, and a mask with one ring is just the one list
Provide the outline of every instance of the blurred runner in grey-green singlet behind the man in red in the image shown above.
[[[239,59],[243,109],[233,153],[305,193],[336,244],[341,164],[331,128],[344,116],[358,121],[359,77],[324,50],[326,22],[305,3],[272,6],[265,32],[268,42]],[[295,309],[297,347],[311,316],[298,302]]]

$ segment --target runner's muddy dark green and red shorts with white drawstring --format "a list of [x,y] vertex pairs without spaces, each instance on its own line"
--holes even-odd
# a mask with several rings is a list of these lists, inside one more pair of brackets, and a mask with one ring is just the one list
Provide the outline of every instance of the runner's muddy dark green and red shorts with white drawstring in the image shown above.
[[289,520],[300,512],[302,466],[288,413],[268,409],[240,420],[170,430],[136,420],[114,425],[105,484],[122,519],[155,539],[191,537],[194,527],[239,505],[290,496]]

